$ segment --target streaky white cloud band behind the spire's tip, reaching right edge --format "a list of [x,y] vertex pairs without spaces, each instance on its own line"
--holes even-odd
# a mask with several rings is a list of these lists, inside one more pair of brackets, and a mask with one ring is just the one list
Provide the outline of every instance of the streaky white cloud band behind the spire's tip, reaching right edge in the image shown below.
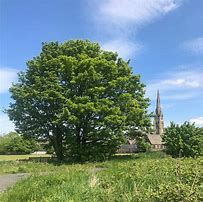
[[162,99],[185,100],[203,96],[203,68],[193,70],[175,70],[173,72],[159,75],[161,79],[149,82],[147,85],[147,96],[155,98],[159,89]]

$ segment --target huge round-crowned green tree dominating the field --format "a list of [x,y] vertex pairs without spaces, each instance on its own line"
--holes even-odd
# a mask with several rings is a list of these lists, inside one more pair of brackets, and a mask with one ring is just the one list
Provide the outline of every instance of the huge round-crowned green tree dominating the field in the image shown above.
[[128,130],[149,126],[144,84],[97,43],[44,43],[10,89],[17,131],[47,139],[58,159],[112,155]]

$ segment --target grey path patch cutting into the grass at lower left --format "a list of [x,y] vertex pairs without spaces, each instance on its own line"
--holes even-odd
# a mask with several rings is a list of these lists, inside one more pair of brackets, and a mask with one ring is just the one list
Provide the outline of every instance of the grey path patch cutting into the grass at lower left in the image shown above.
[[8,174],[0,176],[0,192],[5,191],[8,187],[11,187],[16,182],[28,177],[27,173],[20,174]]

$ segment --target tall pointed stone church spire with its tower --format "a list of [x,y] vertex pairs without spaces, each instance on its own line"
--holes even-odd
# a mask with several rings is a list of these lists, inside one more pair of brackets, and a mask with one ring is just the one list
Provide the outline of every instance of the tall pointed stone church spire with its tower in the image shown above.
[[163,113],[161,110],[161,101],[159,90],[157,91],[157,99],[156,99],[156,110],[155,110],[155,133],[157,135],[162,135],[164,131],[164,120],[163,120]]

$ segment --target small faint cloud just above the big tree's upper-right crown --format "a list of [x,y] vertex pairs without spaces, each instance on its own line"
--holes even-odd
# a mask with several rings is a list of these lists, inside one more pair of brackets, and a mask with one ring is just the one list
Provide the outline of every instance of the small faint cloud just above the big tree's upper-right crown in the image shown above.
[[102,49],[117,52],[124,59],[129,59],[133,54],[137,55],[142,50],[142,45],[117,39],[104,43]]

